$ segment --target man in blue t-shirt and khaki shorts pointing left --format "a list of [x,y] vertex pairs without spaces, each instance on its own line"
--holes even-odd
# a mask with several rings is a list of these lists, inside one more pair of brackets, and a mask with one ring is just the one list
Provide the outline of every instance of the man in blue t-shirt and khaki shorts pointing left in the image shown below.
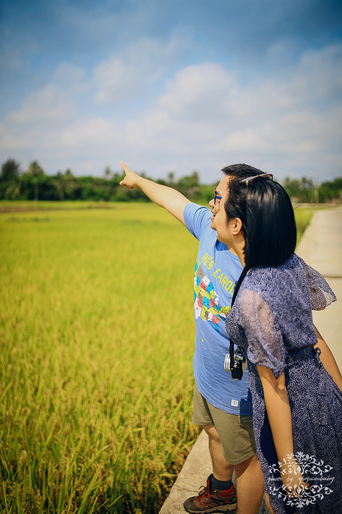
[[[225,316],[242,272],[238,256],[217,240],[212,219],[230,180],[261,174],[246,164],[222,169],[222,180],[206,207],[190,202],[179,191],[140,177],[121,162],[124,187],[139,187],[154,203],[175,216],[199,241],[194,274],[196,322],[193,423],[208,434],[213,474],[204,489],[184,502],[187,512],[257,514],[263,495],[263,475],[256,455],[252,396],[248,371],[241,381],[223,368],[229,350]],[[232,483],[235,469],[236,490]]]

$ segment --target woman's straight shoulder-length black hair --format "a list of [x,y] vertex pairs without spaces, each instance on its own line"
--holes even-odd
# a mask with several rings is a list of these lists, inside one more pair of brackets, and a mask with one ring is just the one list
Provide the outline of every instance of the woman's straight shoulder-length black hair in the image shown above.
[[224,210],[227,218],[240,218],[245,238],[246,270],[254,266],[280,266],[296,248],[297,229],[288,193],[268,178],[246,186],[230,182]]

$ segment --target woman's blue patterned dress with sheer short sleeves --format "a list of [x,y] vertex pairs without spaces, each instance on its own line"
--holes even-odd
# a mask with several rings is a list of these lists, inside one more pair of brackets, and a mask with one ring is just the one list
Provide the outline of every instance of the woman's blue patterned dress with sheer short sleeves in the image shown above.
[[[255,267],[242,281],[226,318],[229,336],[247,361],[254,434],[265,491],[276,514],[342,513],[342,393],[319,359],[312,309],[336,297],[326,280],[295,253],[282,266]],[[286,494],[256,365],[285,374],[294,455],[310,488]]]

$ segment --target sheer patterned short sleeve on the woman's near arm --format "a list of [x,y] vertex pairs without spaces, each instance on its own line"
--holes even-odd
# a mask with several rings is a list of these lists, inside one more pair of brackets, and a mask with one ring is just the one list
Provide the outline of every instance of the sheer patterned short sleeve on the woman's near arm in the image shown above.
[[286,367],[286,350],[272,310],[255,291],[244,289],[239,296],[240,326],[248,339],[247,358],[253,364],[270,368],[278,378]]

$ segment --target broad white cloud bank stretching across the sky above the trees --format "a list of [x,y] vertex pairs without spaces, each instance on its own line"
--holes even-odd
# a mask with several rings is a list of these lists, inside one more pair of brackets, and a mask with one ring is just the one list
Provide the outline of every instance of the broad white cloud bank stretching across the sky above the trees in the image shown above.
[[[154,55],[160,52],[160,62],[156,58],[153,66],[157,74],[168,47],[148,44]],[[99,84],[103,77],[98,102],[124,98],[134,73],[140,79],[129,95],[137,84],[146,88],[155,80],[158,74],[146,72],[153,59],[146,58],[139,68],[138,50],[130,47],[124,59],[113,57],[95,69]],[[248,84],[241,84],[237,70],[227,71],[217,63],[186,66],[165,83],[152,106],[132,119],[103,112],[77,116],[71,89],[49,84],[5,120],[1,148],[21,151],[31,145],[42,162],[46,156],[51,171],[71,166],[78,173],[99,174],[106,164],[118,168],[123,159],[155,177],[170,169],[180,175],[197,168],[203,180],[212,181],[224,164],[244,161],[278,178],[336,176],[342,172],[341,54],[342,45],[311,50],[291,72],[250,76]],[[63,66],[55,79],[69,70],[72,80],[84,83],[79,69]],[[43,130],[47,121],[48,130]]]

